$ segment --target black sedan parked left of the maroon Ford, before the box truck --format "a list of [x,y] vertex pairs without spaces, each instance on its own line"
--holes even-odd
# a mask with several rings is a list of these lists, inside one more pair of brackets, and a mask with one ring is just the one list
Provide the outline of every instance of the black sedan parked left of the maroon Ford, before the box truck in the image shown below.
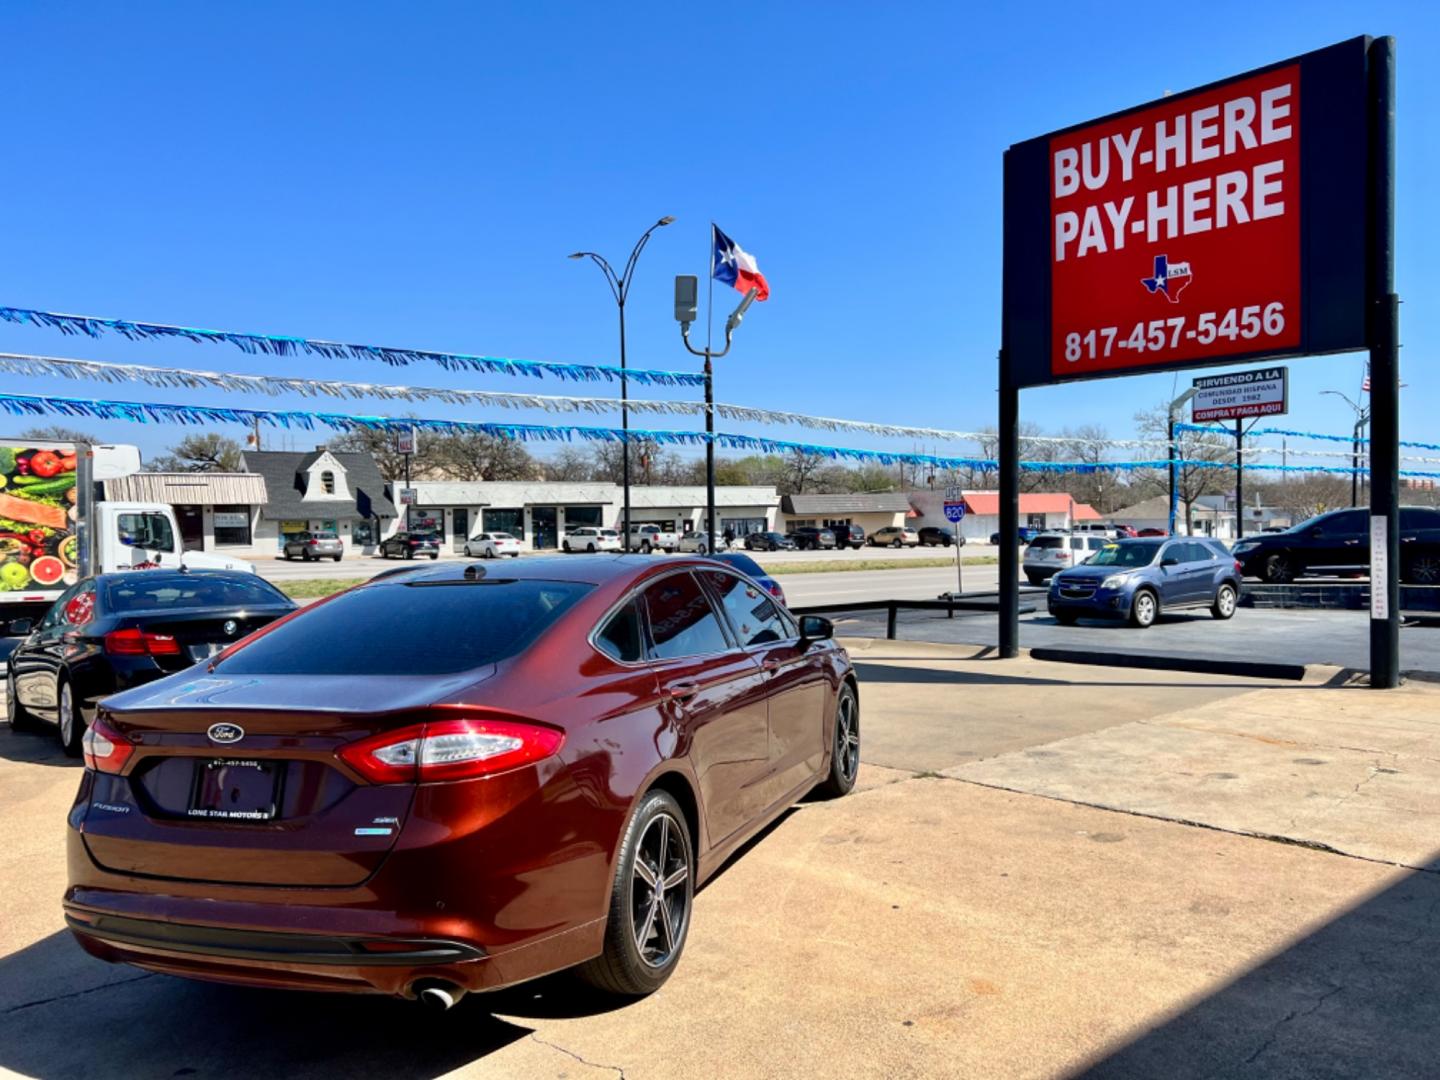
[[297,609],[253,573],[130,570],[85,577],[63,593],[10,654],[10,729],[56,724],[79,756],[96,703],[183,671]]

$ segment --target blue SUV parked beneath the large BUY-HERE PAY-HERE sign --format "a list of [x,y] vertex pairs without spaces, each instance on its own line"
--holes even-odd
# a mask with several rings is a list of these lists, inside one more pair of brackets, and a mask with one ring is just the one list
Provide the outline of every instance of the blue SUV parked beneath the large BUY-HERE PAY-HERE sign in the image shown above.
[[1050,579],[1048,606],[1056,622],[1119,618],[1142,629],[1162,611],[1210,608],[1217,619],[1236,613],[1240,564],[1218,540],[1158,537],[1116,540],[1083,566]]

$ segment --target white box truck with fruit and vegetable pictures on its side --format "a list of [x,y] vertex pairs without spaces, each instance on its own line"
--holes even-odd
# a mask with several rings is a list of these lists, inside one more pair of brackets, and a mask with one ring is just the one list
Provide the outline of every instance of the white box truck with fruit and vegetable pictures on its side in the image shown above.
[[107,503],[102,481],[140,471],[128,445],[0,438],[0,624],[37,619],[81,577],[186,566],[249,570],[242,559],[181,552],[164,503]]

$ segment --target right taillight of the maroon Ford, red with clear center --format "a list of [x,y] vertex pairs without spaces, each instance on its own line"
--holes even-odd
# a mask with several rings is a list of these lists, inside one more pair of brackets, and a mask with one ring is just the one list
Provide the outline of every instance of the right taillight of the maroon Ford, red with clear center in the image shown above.
[[564,733],[516,720],[435,720],[361,739],[337,753],[372,783],[491,776],[556,753]]

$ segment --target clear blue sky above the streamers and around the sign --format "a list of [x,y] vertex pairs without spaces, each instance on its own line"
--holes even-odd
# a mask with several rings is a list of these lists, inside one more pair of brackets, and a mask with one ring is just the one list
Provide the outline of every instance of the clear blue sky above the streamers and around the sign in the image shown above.
[[[629,359],[680,369],[693,360],[671,318],[671,279],[707,271],[713,219],[759,258],[773,289],[717,361],[720,400],[959,429],[995,420],[1007,145],[1358,33],[1392,33],[1403,436],[1440,441],[1440,380],[1428,363],[1440,336],[1437,215],[1424,197],[1440,171],[1433,4],[27,3],[9,4],[4,24],[0,304],[613,363],[609,292],[593,266],[564,256],[590,248],[624,261],[668,213],[678,220],[651,242],[631,295]],[[733,300],[717,291],[717,311]],[[13,325],[0,325],[0,350],[567,392],[553,380]],[[1319,392],[1355,396],[1361,369],[1359,356],[1293,361],[1286,423],[1348,432],[1348,406]],[[1099,423],[1132,436],[1132,415],[1168,399],[1172,380],[1030,390],[1022,415],[1050,429]],[[4,384],[275,403],[68,380]],[[147,454],[181,433],[86,426]]]

